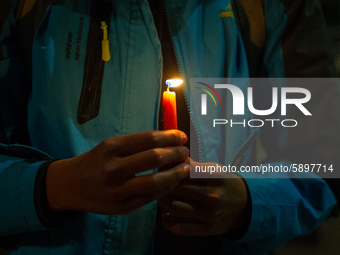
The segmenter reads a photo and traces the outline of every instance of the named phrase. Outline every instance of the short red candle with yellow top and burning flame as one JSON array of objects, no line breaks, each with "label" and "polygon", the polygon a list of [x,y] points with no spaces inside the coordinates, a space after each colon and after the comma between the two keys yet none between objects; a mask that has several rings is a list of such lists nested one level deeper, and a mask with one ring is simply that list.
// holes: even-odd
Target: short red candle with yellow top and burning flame
[{"label": "short red candle with yellow top and burning flame", "polygon": [[178,79],[166,81],[168,89],[163,92],[164,130],[177,129],[176,93],[171,92],[169,87],[176,87],[182,84],[182,82],[182,80]]}]

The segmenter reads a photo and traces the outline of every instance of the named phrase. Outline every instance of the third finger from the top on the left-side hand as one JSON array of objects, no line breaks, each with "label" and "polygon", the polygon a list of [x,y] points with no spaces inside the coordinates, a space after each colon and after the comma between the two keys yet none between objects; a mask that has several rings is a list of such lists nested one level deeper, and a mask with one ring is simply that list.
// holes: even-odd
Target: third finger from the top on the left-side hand
[{"label": "third finger from the top on the left-side hand", "polygon": [[125,191],[128,196],[139,194],[154,193],[157,199],[164,196],[163,193],[158,193],[164,188],[169,188],[171,192],[178,183],[188,178],[190,175],[190,166],[188,163],[182,163],[170,170],[164,172],[157,172],[148,175],[140,175],[125,182],[121,189]]}]

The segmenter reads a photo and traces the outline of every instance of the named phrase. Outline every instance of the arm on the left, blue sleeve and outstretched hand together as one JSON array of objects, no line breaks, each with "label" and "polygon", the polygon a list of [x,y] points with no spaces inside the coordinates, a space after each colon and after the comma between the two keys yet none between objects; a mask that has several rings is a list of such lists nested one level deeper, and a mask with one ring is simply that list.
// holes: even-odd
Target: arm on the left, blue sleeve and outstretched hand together
[{"label": "arm on the left, blue sleeve and outstretched hand together", "polygon": [[[47,170],[46,191],[53,211],[127,214],[172,191],[189,175],[183,162],[187,140],[179,131],[149,131],[108,138],[74,158],[53,162]],[[171,147],[166,147],[171,146]],[[5,146],[32,154],[29,160],[6,157],[0,165],[0,235],[44,229],[37,215],[36,176],[45,161],[35,162],[32,148]],[[42,154],[43,155],[43,154]],[[136,174],[169,163],[172,169]]]}]

